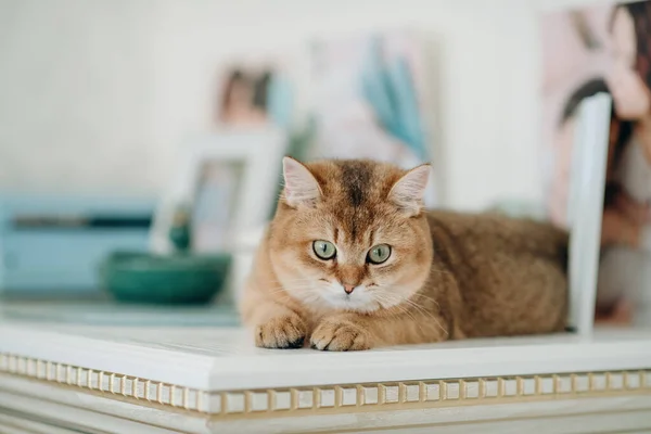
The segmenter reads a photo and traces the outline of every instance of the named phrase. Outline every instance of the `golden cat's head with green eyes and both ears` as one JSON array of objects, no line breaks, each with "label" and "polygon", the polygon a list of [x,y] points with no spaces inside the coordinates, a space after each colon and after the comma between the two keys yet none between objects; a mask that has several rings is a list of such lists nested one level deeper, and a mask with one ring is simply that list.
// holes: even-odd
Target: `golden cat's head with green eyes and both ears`
[{"label": "golden cat's head with green eyes and both ears", "polygon": [[314,309],[370,312],[409,298],[432,263],[423,214],[430,170],[285,157],[269,239],[284,291]]}]

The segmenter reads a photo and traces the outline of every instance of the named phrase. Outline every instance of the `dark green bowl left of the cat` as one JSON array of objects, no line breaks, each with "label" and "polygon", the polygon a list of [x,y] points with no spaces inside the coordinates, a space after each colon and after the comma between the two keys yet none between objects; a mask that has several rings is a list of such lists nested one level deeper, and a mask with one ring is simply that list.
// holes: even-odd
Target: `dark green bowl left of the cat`
[{"label": "dark green bowl left of the cat", "polygon": [[208,303],[224,288],[231,255],[151,255],[116,252],[101,267],[115,299],[149,304]]}]

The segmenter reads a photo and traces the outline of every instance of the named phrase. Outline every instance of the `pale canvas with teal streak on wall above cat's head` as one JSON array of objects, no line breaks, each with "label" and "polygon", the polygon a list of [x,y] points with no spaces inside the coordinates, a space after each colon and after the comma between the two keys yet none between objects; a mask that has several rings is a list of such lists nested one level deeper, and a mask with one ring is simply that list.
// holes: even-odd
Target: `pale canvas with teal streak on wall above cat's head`
[{"label": "pale canvas with teal streak on wall above cat's head", "polygon": [[[316,138],[311,158],[436,164],[427,43],[409,31],[319,39],[310,46]],[[436,204],[436,176],[425,203]]]}]

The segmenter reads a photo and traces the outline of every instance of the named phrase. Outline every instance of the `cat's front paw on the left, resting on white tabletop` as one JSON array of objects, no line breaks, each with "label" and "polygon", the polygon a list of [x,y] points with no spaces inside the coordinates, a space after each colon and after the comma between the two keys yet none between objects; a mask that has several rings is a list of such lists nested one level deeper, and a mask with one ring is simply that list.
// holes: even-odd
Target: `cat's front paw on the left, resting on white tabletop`
[{"label": "cat's front paw on the left, resting on white tabletop", "polygon": [[263,348],[302,348],[306,335],[307,327],[301,317],[283,315],[255,328],[255,344]]}]

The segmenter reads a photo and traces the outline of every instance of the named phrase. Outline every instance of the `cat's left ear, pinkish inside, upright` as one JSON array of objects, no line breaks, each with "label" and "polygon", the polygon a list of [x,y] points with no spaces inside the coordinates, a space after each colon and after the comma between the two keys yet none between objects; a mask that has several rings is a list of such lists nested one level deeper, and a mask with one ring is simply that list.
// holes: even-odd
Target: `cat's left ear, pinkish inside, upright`
[{"label": "cat's left ear, pinkish inside, upright", "polygon": [[284,177],[284,200],[292,207],[315,206],[321,197],[321,188],[315,176],[305,165],[294,158],[282,158]]}]

